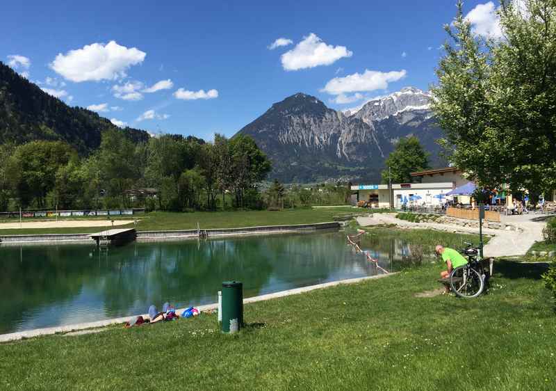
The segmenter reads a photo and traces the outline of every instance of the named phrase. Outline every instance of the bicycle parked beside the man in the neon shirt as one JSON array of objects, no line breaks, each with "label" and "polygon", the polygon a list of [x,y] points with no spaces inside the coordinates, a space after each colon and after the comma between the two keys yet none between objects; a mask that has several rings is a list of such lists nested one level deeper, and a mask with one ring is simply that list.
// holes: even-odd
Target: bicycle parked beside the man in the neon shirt
[{"label": "bicycle parked beside the man in the neon shirt", "polygon": [[452,292],[463,298],[475,298],[488,286],[490,272],[484,269],[479,256],[479,248],[464,242],[467,246],[462,252],[467,256],[467,264],[458,266],[450,273]]}]

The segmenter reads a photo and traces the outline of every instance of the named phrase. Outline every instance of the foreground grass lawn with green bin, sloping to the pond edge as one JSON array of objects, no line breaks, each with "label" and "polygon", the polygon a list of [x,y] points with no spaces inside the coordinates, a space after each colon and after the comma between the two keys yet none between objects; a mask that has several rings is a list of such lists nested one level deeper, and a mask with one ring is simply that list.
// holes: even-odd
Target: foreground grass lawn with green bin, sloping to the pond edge
[{"label": "foreground grass lawn with green bin, sloping to the pond edge", "polygon": [[216,314],[0,345],[2,390],[555,390],[556,322],[538,264],[499,262],[486,296],[416,298],[441,264]]}]

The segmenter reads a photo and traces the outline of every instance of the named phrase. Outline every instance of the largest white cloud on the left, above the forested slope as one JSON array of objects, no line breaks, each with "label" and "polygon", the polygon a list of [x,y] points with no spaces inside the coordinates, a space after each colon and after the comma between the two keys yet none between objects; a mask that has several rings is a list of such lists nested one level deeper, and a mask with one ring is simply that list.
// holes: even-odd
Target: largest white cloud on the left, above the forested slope
[{"label": "largest white cloud on the left, above the forested slope", "polygon": [[126,76],[131,65],[142,63],[147,54],[136,47],[127,48],[110,41],[93,43],[82,49],[58,54],[50,67],[65,79],[80,81],[115,80]]}]

